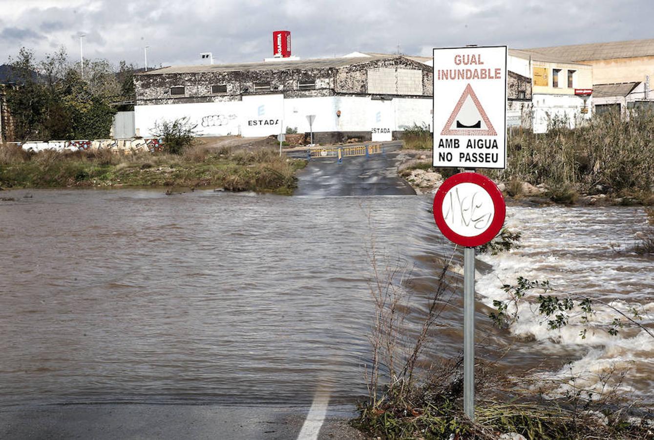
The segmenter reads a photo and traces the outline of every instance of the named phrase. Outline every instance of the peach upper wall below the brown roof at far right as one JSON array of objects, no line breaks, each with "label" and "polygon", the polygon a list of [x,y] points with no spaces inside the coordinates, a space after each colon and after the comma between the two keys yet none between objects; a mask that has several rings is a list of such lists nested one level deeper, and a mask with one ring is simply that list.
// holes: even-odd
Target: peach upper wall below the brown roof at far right
[{"label": "peach upper wall below the brown roof at far right", "polygon": [[645,75],[654,79],[654,56],[589,60],[579,63],[593,66],[593,84],[645,81]]}]

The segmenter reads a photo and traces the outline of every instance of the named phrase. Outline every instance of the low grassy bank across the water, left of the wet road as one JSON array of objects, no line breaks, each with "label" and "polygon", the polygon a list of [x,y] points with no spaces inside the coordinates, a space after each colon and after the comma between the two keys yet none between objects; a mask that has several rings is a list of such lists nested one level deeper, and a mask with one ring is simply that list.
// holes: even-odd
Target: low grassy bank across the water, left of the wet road
[{"label": "low grassy bank across the water, left of the wet road", "polygon": [[222,187],[292,194],[304,160],[274,149],[188,147],[181,155],[111,151],[27,153],[0,145],[0,187]]}]

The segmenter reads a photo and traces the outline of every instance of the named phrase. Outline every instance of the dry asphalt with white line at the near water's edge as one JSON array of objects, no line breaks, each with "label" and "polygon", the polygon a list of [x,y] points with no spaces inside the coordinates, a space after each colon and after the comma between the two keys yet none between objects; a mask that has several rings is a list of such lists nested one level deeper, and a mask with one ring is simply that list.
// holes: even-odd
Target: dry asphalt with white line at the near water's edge
[{"label": "dry asphalt with white line at the near water's edge", "polygon": [[0,438],[10,439],[364,439],[347,409],[330,408],[311,424],[308,408],[95,404],[0,409]]}]

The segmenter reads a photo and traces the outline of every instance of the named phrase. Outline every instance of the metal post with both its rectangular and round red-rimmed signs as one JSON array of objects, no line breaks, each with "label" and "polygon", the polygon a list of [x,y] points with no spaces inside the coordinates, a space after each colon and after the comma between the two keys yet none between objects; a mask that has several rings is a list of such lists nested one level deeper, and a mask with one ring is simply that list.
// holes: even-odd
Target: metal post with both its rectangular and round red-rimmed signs
[{"label": "metal post with both its rectangular and round red-rimmed signs", "polygon": [[[507,60],[507,46],[434,49],[434,166],[506,168]],[[433,211],[443,235],[465,247],[463,410],[474,420],[475,246],[500,232],[506,206],[492,180],[468,169],[443,182]]]}]

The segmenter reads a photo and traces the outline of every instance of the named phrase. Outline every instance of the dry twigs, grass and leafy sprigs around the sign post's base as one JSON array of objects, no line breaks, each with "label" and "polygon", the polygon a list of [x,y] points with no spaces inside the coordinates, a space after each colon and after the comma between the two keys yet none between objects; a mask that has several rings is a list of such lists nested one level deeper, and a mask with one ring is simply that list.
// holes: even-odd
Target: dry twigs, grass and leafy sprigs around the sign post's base
[{"label": "dry twigs, grass and leafy sprigs around the sign post's base", "polygon": [[[510,241],[517,242],[519,237],[512,236]],[[572,374],[571,380],[519,371],[507,375],[500,373],[496,363],[481,357],[475,362],[472,422],[462,409],[462,358],[439,358],[438,349],[429,342],[442,331],[441,314],[462,287],[453,257],[435,262],[440,269],[434,293],[416,308],[409,305],[411,274],[401,264],[380,261],[374,244],[369,255],[373,268],[370,293],[375,304],[366,370],[369,395],[358,405],[354,427],[380,439],[651,438],[651,413],[636,410],[638,416],[634,416],[632,403],[619,392],[623,377],[604,376],[597,392],[585,390],[583,378]],[[505,288],[520,299],[526,291],[544,289],[543,297],[551,291],[547,283],[524,279]],[[411,304],[415,301],[411,298]],[[567,321],[572,309],[559,299],[543,303],[541,313],[554,322],[550,328],[565,325],[558,316],[562,314],[561,319]],[[563,308],[559,310],[560,305]],[[593,314],[587,302],[576,306]],[[416,320],[414,315],[408,323],[409,314],[419,317]],[[508,318],[506,313],[498,317],[505,323],[504,318]]]}]

